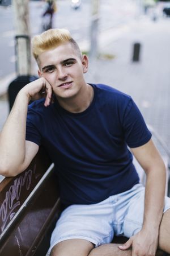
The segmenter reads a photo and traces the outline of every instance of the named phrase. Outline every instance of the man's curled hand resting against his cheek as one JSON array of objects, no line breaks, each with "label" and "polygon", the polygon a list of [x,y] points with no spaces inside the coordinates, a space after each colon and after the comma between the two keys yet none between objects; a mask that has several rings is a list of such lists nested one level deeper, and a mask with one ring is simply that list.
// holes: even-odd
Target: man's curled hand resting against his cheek
[{"label": "man's curled hand resting against his cheek", "polygon": [[25,85],[19,92],[22,93],[26,94],[28,101],[45,98],[45,106],[49,106],[52,101],[52,86],[44,77]]}]

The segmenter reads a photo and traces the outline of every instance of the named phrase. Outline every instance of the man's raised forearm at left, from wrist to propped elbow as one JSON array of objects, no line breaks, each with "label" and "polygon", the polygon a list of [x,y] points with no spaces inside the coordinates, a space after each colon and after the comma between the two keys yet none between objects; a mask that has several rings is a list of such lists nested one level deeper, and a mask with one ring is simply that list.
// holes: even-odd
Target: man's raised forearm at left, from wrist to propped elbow
[{"label": "man's raised forearm at left, from wrist to propped elbow", "polygon": [[0,174],[15,176],[25,158],[25,126],[29,98],[19,92],[0,133]]}]

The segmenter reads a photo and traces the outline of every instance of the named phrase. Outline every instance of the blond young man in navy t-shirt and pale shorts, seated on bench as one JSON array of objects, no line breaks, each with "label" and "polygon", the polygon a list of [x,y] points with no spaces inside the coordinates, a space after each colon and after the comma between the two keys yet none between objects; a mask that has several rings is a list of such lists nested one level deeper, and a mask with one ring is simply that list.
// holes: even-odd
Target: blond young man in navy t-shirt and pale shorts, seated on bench
[{"label": "blond young man in navy t-shirt and pale shorts, seated on bench", "polygon": [[[1,132],[0,171],[15,176],[40,144],[48,150],[65,207],[48,255],[148,256],[157,247],[170,253],[165,167],[134,101],[86,83],[88,58],[69,31],[35,36],[32,49],[40,79],[16,97]],[[128,146],[146,172],[146,188]],[[117,247],[114,235],[130,239]]]}]

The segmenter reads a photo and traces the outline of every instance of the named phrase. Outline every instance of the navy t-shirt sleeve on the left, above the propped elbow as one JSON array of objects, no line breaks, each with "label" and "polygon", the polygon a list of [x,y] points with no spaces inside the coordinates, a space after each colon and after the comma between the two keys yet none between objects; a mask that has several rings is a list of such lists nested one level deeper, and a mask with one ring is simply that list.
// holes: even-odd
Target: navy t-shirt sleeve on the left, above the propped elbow
[{"label": "navy t-shirt sleeve on the left, above the propped elbow", "polygon": [[40,146],[41,144],[41,135],[37,129],[36,123],[38,122],[36,113],[31,109],[28,109],[27,114],[27,125],[26,125],[26,141],[31,141]]}]

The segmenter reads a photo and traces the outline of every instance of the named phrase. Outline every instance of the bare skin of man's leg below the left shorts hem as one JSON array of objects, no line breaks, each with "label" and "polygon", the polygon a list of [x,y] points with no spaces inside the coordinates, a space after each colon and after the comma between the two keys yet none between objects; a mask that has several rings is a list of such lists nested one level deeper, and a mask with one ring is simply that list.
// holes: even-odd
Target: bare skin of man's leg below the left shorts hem
[{"label": "bare skin of man's leg below the left shorts hem", "polygon": [[70,239],[57,243],[50,256],[87,256],[94,248],[91,242],[83,239]]}]

